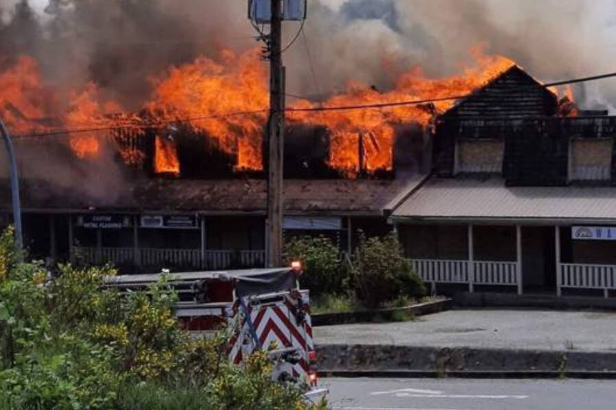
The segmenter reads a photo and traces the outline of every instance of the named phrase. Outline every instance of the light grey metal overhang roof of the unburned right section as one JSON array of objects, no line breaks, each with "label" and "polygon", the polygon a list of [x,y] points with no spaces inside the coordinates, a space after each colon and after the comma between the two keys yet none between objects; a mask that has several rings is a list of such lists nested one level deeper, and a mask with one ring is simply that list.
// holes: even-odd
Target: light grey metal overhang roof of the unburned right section
[{"label": "light grey metal overhang roof of the unburned right section", "polygon": [[512,187],[499,176],[431,178],[391,219],[616,221],[616,187]]}]

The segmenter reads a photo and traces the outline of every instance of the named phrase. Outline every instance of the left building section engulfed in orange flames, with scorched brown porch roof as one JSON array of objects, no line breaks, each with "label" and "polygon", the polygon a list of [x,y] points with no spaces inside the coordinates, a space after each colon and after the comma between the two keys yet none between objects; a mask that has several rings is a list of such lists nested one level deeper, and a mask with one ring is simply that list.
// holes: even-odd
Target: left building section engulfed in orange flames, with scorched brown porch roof
[{"label": "left building section engulfed in orange flames, with scorched brown porch roof", "polygon": [[[477,53],[455,77],[415,69],[390,91],[355,83],[289,104],[285,232],[318,231],[347,252],[359,229],[388,232],[384,217],[429,173],[431,124],[454,101],[388,104],[465,95],[511,66]],[[94,84],[60,110],[61,93],[43,85],[31,58],[0,73],[29,249],[130,271],[262,264],[268,88],[258,54],[197,58],[152,84],[139,110],[123,110]]]}]

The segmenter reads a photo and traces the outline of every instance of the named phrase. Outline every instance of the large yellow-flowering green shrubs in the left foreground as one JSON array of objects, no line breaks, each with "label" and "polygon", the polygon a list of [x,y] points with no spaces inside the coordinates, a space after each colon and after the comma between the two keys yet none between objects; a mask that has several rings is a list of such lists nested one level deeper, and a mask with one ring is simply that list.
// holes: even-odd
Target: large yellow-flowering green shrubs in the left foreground
[{"label": "large yellow-flowering green shrubs in the left foreground", "polygon": [[122,296],[102,287],[109,267],[66,265],[50,283],[16,262],[11,238],[0,237],[1,410],[316,409],[270,380],[264,353],[234,365],[225,333],[182,330],[165,280]]}]

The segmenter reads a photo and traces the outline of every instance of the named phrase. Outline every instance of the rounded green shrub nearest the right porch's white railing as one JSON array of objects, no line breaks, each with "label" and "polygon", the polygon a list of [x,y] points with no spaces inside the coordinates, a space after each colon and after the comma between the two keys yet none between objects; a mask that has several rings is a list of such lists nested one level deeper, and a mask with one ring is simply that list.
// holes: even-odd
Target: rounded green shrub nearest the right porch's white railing
[{"label": "rounded green shrub nearest the right porch's white railing", "polygon": [[372,309],[401,296],[425,294],[423,281],[412,272],[393,235],[369,239],[361,235],[351,258],[350,283],[357,298]]}]

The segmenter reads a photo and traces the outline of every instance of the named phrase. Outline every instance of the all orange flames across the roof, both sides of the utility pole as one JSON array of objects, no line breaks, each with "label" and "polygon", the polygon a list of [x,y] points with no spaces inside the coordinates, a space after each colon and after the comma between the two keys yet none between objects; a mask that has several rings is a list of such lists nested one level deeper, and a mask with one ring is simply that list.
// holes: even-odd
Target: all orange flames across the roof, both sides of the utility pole
[{"label": "all orange flames across the roof, both sides of the utility pole", "polygon": [[[298,101],[292,108],[362,106],[466,95],[514,64],[501,56],[484,56],[481,47],[471,50],[471,55],[475,64],[462,67],[460,75],[434,79],[416,68],[401,75],[391,91],[379,92],[368,84],[349,82],[343,95],[335,95],[322,103]],[[191,119],[184,122],[214,138],[226,153],[237,156],[235,169],[261,170],[269,105],[267,77],[258,50],[239,55],[225,50],[220,62],[200,57],[181,67],[171,67],[163,77],[153,80],[152,99],[146,101],[143,108],[155,121]],[[145,120],[122,113],[118,104],[102,97],[95,84],[87,84],[81,91],[71,93],[69,109],[65,114],[58,114],[57,93],[43,86],[36,62],[23,57],[0,73],[0,87],[3,90],[0,115],[13,132],[49,129],[49,124],[35,121],[47,117],[60,119],[56,128],[108,129],[133,124],[134,130],[120,138],[119,153],[127,164],[143,163],[143,151],[130,141],[135,135],[143,134]],[[288,119],[291,123],[327,128],[329,165],[347,176],[356,176],[362,170],[392,169],[396,126],[427,124],[435,112],[444,112],[454,103],[452,100],[359,110],[295,111],[289,112]],[[110,116],[109,112],[119,114]],[[241,114],[230,116],[229,113]],[[108,130],[70,134],[69,146],[79,158],[93,158],[100,154],[103,138],[109,134]],[[175,143],[156,137],[155,148],[156,173],[179,175]],[[362,164],[360,156],[364,158]]]}]

